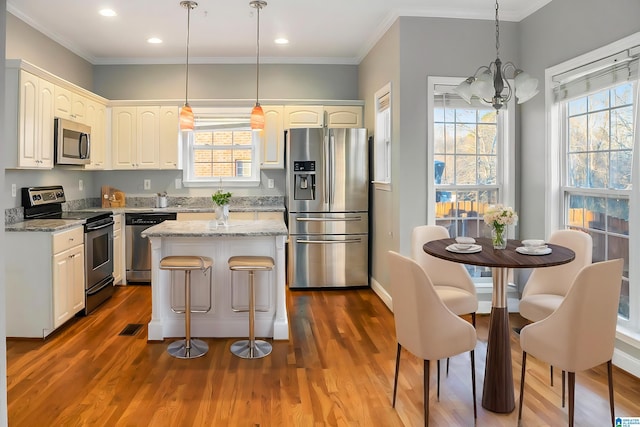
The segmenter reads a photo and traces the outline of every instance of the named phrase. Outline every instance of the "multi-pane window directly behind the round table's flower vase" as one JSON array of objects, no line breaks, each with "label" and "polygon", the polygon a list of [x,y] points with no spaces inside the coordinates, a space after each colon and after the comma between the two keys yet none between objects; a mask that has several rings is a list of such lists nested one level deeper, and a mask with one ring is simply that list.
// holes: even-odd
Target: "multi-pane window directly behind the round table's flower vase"
[{"label": "multi-pane window directly behind the round table's flower vase", "polygon": [[[433,179],[428,191],[429,223],[442,225],[451,237],[490,237],[483,221],[484,210],[492,204],[513,206],[510,185],[513,150],[507,141],[512,135],[513,101],[507,110],[496,110],[479,100],[465,102],[453,92],[459,78],[429,77],[428,164]],[[513,236],[513,230],[510,231]],[[489,268],[467,266],[476,281],[490,278]],[[490,280],[490,279],[487,279]]]}]

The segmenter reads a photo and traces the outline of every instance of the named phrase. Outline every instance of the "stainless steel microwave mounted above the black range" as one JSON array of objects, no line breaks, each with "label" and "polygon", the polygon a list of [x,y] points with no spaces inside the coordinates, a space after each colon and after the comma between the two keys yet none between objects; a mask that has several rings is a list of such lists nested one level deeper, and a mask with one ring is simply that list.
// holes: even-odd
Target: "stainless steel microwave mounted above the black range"
[{"label": "stainless steel microwave mounted above the black range", "polygon": [[55,162],[58,165],[86,165],[91,162],[91,127],[55,118]]}]

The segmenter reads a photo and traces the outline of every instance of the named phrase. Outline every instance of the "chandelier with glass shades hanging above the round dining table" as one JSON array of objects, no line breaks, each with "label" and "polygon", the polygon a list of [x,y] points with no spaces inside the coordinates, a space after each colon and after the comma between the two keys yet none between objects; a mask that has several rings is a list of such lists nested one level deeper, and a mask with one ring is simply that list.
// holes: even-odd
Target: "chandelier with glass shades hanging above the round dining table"
[{"label": "chandelier with glass shades hanging above the round dining table", "polygon": [[[491,104],[496,111],[500,109],[514,95],[518,104],[522,104],[538,93],[538,79],[517,68],[513,62],[502,64],[500,60],[500,22],[498,20],[498,0],[496,0],[496,59],[488,66],[483,65],[473,76],[468,77],[455,88],[455,92],[462,99],[471,104],[471,98],[476,96]],[[508,79],[514,80],[511,87]]]}]

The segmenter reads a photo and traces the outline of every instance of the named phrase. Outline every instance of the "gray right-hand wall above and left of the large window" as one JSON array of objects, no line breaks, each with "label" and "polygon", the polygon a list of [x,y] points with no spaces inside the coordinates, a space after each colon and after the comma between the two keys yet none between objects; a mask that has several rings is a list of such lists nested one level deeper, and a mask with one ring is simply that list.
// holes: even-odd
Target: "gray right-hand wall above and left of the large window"
[{"label": "gray right-hand wall above and left of the large window", "polygon": [[[520,23],[522,67],[544,84],[544,70],[640,31],[637,0],[553,0]],[[521,107],[520,235],[545,235],[543,90]]]}]

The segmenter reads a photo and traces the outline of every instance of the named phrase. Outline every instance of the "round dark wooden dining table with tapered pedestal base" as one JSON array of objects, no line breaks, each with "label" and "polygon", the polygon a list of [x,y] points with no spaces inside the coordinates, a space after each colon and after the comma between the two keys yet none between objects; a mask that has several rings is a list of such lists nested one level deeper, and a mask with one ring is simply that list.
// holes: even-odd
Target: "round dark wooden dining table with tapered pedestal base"
[{"label": "round dark wooden dining table with tapered pedestal base", "polygon": [[508,413],[515,409],[507,308],[509,269],[542,268],[566,264],[575,258],[575,253],[564,246],[548,244],[551,248],[551,253],[548,255],[525,255],[516,252],[516,248],[522,246],[519,240],[508,240],[506,249],[494,249],[491,239],[484,237],[476,238],[476,244],[482,247],[480,252],[448,251],[447,246],[454,243],[454,239],[432,240],[424,244],[423,250],[429,255],[447,261],[491,267],[493,295],[482,406],[493,412]]}]

